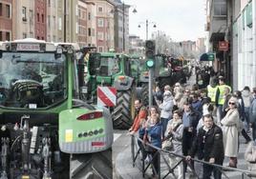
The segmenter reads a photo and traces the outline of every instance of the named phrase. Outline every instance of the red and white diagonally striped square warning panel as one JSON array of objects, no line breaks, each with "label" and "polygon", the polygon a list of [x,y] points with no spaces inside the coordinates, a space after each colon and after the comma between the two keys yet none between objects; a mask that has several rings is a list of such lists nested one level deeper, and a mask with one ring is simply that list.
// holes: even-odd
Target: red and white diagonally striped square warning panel
[{"label": "red and white diagonally striped square warning panel", "polygon": [[97,106],[115,107],[117,102],[117,89],[114,87],[97,87]]}]

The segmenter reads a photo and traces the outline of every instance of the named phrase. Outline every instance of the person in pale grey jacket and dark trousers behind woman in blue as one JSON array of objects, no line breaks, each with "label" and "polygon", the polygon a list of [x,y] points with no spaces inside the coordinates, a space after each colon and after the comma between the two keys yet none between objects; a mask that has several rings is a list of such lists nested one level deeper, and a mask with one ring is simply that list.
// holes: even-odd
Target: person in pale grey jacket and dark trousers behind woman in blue
[{"label": "person in pale grey jacket and dark trousers behind woman in blue", "polygon": [[170,90],[165,90],[163,93],[163,101],[160,104],[160,122],[162,125],[162,138],[164,138],[164,133],[167,128],[168,121],[171,119],[172,109],[173,109],[173,95]]}]

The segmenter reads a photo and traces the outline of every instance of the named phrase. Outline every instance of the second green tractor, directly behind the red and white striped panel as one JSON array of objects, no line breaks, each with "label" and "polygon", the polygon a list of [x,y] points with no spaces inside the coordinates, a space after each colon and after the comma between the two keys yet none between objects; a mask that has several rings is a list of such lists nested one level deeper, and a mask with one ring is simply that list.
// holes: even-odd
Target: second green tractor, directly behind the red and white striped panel
[{"label": "second green tractor, directly behind the red and white striped panel", "polygon": [[115,107],[110,107],[116,129],[129,129],[133,124],[136,81],[129,56],[115,52],[91,52],[85,78],[86,99],[96,103],[98,87],[117,89]]}]

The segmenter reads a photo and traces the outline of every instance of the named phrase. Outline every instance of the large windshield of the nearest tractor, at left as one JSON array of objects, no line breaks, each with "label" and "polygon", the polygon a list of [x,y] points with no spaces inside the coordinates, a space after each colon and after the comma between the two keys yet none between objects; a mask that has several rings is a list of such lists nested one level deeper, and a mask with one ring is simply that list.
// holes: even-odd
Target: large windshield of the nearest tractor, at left
[{"label": "large windshield of the nearest tractor, at left", "polygon": [[37,109],[66,98],[65,55],[3,52],[0,58],[0,107]]}]

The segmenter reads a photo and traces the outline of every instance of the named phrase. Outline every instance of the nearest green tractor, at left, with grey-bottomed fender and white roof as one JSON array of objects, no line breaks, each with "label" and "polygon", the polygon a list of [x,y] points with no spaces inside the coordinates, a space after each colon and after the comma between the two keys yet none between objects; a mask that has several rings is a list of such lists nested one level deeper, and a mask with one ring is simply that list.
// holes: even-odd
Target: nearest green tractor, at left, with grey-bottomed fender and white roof
[{"label": "nearest green tractor, at left, with grey-bottomed fender and white roof", "polygon": [[112,117],[81,100],[75,50],[0,43],[1,178],[113,178]]}]

